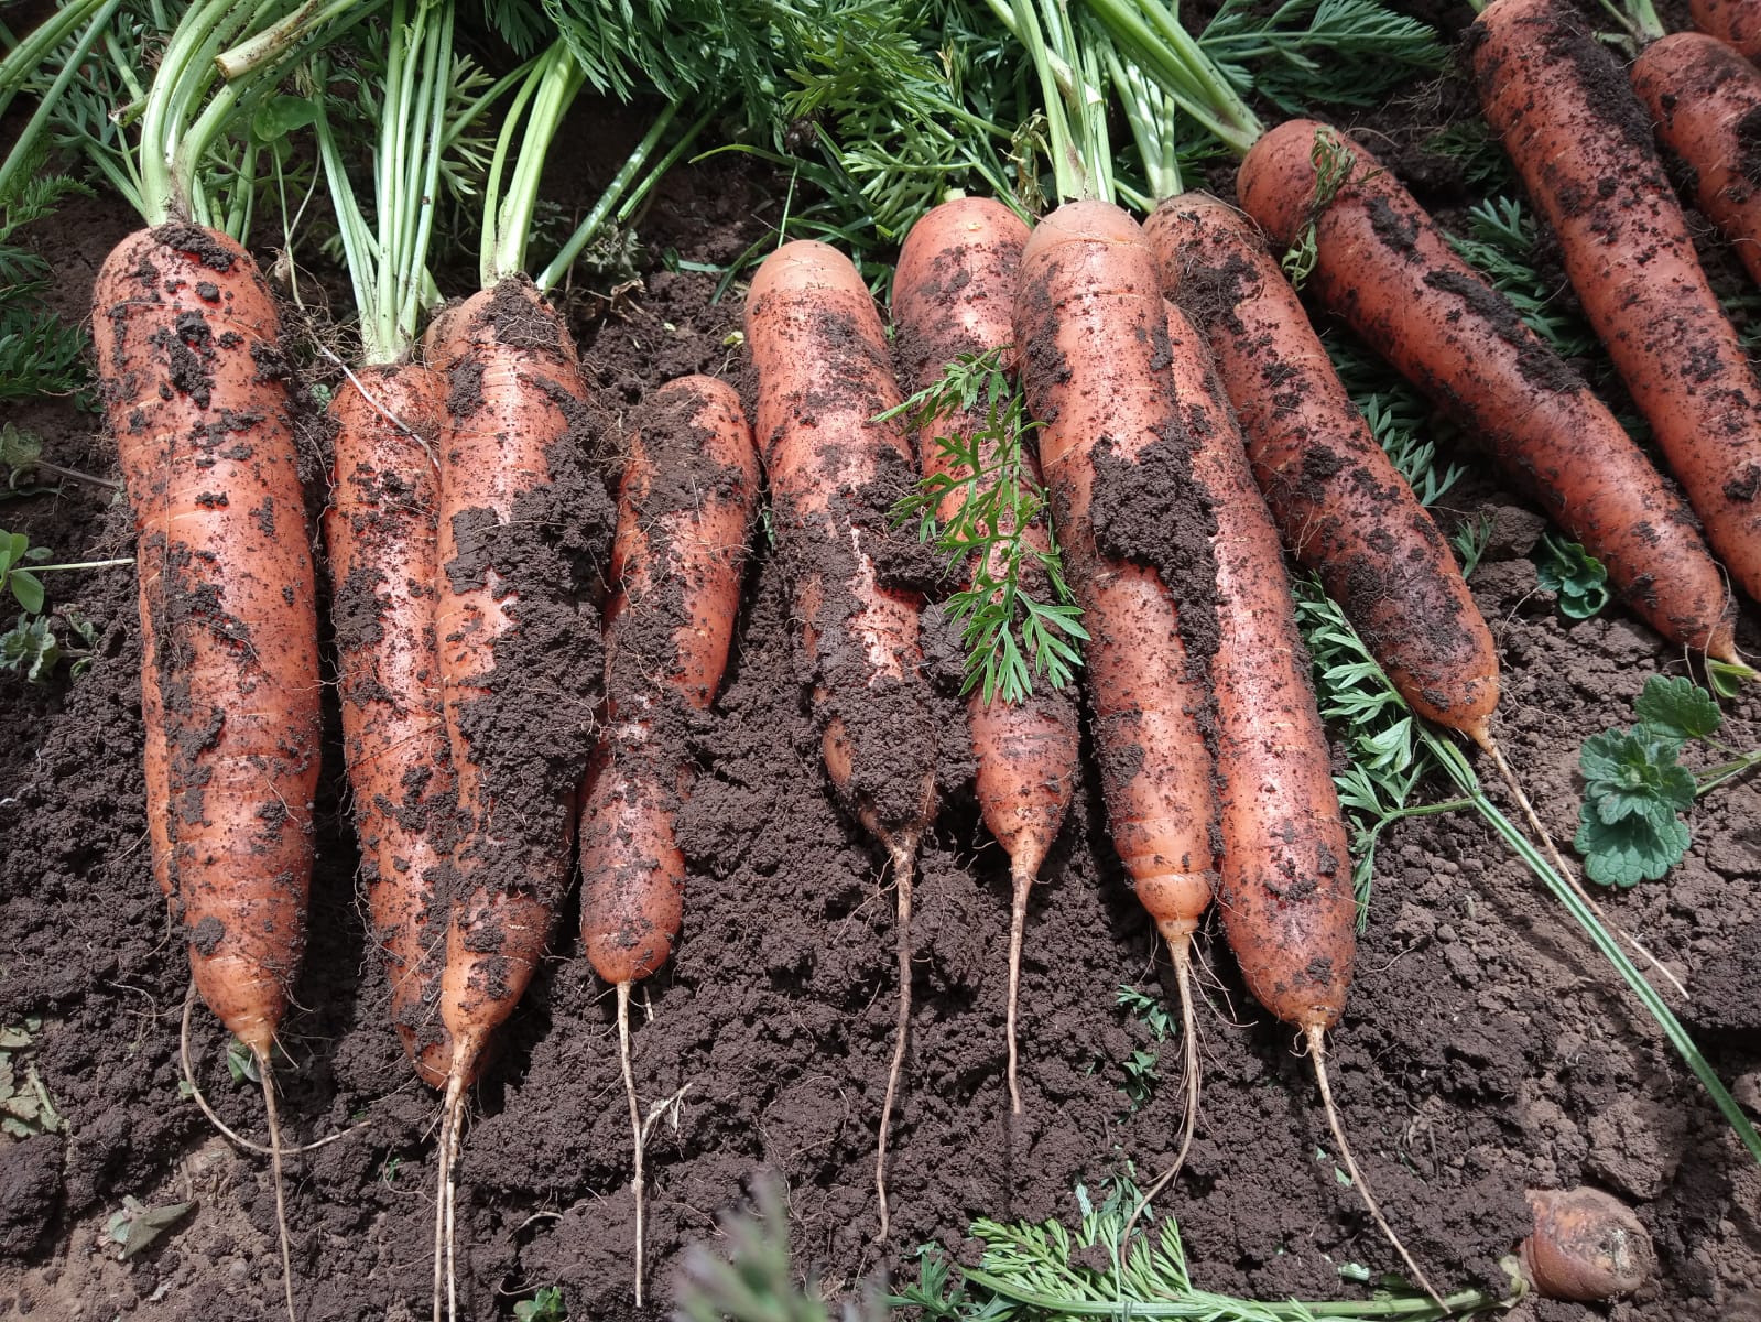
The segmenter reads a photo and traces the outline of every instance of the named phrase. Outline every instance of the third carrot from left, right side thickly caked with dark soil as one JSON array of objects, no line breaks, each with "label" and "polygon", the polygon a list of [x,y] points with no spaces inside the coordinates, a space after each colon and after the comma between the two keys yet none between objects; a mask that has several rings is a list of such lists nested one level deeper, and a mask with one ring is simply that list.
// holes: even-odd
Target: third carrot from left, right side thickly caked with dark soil
[{"label": "third carrot from left, right side thickly caked with dark soil", "polygon": [[574,344],[523,277],[472,294],[463,326],[440,444],[435,603],[460,807],[440,977],[453,1061],[437,1274],[442,1251],[451,1257],[465,1089],[525,994],[569,885],[576,791],[604,672],[586,580],[608,511],[599,479],[585,472],[586,393]]}]

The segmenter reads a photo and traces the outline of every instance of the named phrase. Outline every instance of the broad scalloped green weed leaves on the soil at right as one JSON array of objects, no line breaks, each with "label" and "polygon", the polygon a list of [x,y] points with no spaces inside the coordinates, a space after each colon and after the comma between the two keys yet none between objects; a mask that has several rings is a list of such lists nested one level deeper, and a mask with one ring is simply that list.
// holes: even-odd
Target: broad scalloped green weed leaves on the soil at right
[{"label": "broad scalloped green weed leaves on the soil at right", "polygon": [[[1638,724],[1583,740],[1583,806],[1573,848],[1583,871],[1604,887],[1657,881],[1687,855],[1692,836],[1682,813],[1717,784],[1761,763],[1761,749],[1736,753],[1712,739],[1722,724],[1719,703],[1685,677],[1652,675],[1634,702]],[[1705,770],[1680,763],[1685,746],[1705,740],[1733,754]]]}]

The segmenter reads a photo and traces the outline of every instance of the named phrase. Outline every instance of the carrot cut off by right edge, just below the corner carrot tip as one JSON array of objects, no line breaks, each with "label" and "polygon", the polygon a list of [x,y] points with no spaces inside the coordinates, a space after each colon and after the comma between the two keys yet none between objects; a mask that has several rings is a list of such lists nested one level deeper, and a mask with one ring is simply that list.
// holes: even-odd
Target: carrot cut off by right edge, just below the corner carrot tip
[{"label": "carrot cut off by right edge, just below the corner carrot tip", "polygon": [[1676,32],[1654,41],[1631,69],[1657,139],[1691,175],[1694,201],[1724,231],[1761,284],[1761,71],[1720,41]]}]

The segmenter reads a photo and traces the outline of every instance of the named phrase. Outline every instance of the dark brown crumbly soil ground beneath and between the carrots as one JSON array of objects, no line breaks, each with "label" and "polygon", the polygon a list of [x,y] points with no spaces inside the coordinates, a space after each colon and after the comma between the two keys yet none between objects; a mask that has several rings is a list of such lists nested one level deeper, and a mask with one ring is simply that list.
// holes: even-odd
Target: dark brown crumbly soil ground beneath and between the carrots
[{"label": "dark brown crumbly soil ground beneath and between the carrots", "polygon": [[[616,146],[606,160],[620,159]],[[609,173],[592,169],[597,182]],[[690,264],[729,263],[763,240],[780,197],[734,166],[685,169],[645,224],[641,287],[571,301],[588,384],[618,435],[660,382],[740,370],[729,347],[740,305],[711,301],[717,277]],[[102,252],[130,222],[99,201],[63,217],[37,241],[56,268],[58,307],[83,316]],[[689,264],[667,270],[667,250]],[[93,414],[48,404],[16,420],[44,434],[56,462],[114,476]],[[306,458],[322,471],[315,448]],[[1446,518],[1462,518],[1516,501],[1481,478],[1446,504]],[[127,555],[132,541],[125,506],[99,488],[9,501],[4,520],[65,559]],[[1529,559],[1539,525],[1506,516],[1500,527],[1530,534],[1502,538],[1472,578],[1504,661],[1497,732],[1546,825],[1569,839],[1578,744],[1631,723],[1645,677],[1682,673],[1682,657],[1618,610],[1560,617]],[[148,867],[134,580],[129,569],[58,575],[49,589],[53,606],[97,624],[97,642],[77,680],[65,670],[48,687],[0,677],[0,1026],[28,1029],[14,1075],[42,1081],[65,1130],[0,1135],[0,1317],[268,1317],[280,1290],[268,1163],[218,1139],[180,1091],[188,969]],[[666,1105],[646,1163],[650,1317],[666,1315],[687,1246],[713,1248],[717,1214],[764,1169],[787,1188],[798,1271],[842,1294],[875,1273],[914,1274],[923,1244],[972,1262],[974,1218],[1072,1218],[1079,1183],[1099,1190],[1125,1170],[1143,1181],[1173,1153],[1180,1043],[1116,1005],[1122,985],[1171,1003],[1171,971],[1106,843],[1092,756],[1034,890],[1025,1114],[1009,1114],[1007,862],[960,763],[958,647],[940,612],[925,631],[942,705],[921,739],[940,744],[946,795],[916,888],[917,1008],[888,1181],[895,1237],[873,1243],[872,1186],[896,991],[888,869],[826,783],[798,622],[761,531],[724,694],[689,732],[701,770],[678,825],[685,931],[636,994],[636,1082],[645,1107]],[[1738,645],[1761,654],[1752,605]],[[356,883],[335,703],[326,712],[312,936],[276,1079],[289,1139],[347,1133],[289,1162],[296,1294],[310,1322],[421,1317],[438,1102],[391,1028]],[[541,744],[553,716],[527,712],[530,728],[505,737]],[[1761,742],[1756,696],[1726,719],[1731,744]],[[1724,786],[1691,825],[1694,846],[1666,881],[1601,899],[1685,982],[1689,998],[1671,1001],[1757,1107],[1761,786]],[[562,1289],[569,1317],[636,1317],[615,1001],[578,954],[578,917],[572,902],[560,915],[553,955],[470,1100],[458,1248],[472,1318],[511,1317],[546,1285]],[[1361,1297],[1342,1269],[1375,1276],[1396,1264],[1338,1172],[1310,1065],[1245,994],[1215,925],[1199,952],[1205,1105],[1159,1211],[1180,1216],[1205,1289]],[[206,1096],[261,1140],[261,1095],[229,1077],[224,1031],[199,1006],[190,1047]],[[1138,1051],[1153,1072],[1127,1077]],[[1511,1317],[1761,1315],[1761,1170],[1604,961],[1477,820],[1423,818],[1382,837],[1330,1054],[1358,1162],[1439,1285],[1500,1289],[1499,1259],[1525,1230],[1523,1188],[1588,1183],[1650,1229],[1655,1283],[1608,1310],[1529,1303]],[[192,1207],[122,1262],[107,1227],[125,1199]]]}]

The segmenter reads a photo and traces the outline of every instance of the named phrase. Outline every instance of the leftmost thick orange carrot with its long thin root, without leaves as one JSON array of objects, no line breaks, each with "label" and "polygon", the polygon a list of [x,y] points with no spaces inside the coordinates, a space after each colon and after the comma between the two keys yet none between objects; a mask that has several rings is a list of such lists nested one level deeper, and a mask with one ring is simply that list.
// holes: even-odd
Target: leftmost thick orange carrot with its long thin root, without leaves
[{"label": "leftmost thick orange carrot with its long thin root, without leaves", "polygon": [[250,254],[183,222],[118,243],[92,300],[136,524],[153,871],[257,1059],[292,1315],[269,1054],[305,948],[322,686],[280,323]]}]

